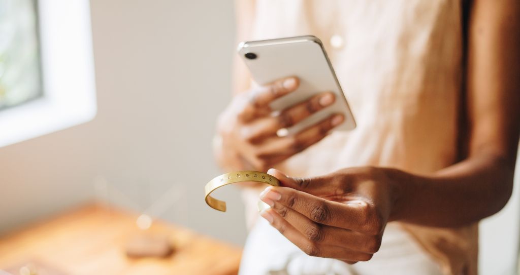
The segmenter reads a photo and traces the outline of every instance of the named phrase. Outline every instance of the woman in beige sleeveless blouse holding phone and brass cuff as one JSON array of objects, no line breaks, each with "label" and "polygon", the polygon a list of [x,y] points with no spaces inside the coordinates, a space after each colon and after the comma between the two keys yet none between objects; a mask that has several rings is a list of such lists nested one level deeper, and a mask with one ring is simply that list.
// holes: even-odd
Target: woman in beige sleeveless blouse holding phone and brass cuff
[{"label": "woman in beige sleeveless blouse holding phone and brass cuff", "polygon": [[272,117],[298,79],[251,88],[237,62],[217,159],[275,167],[284,186],[244,189],[250,210],[258,196],[271,208],[249,216],[241,273],[476,274],[477,223],[512,190],[519,12],[514,0],[237,1],[239,40],[322,39],[358,125],[330,133],[332,116],[278,136],[334,98]]}]

